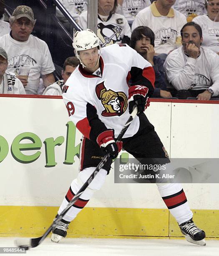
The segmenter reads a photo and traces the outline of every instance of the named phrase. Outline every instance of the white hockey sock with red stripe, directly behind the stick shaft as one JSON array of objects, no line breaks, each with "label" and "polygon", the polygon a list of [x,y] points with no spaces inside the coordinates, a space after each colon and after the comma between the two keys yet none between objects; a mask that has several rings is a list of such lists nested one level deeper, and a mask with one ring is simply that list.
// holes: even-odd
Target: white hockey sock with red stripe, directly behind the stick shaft
[{"label": "white hockey sock with red stripe, directly behind the stick shaft", "polygon": [[[83,169],[79,172],[78,177],[73,180],[68,189],[68,192],[60,205],[58,210],[58,214],[60,214],[65,207],[68,205],[68,202],[73,198],[74,195],[78,192],[78,190],[83,186],[86,180],[91,176],[95,167],[89,167]],[[91,184],[86,188],[80,198],[75,202],[75,204],[68,210],[68,212],[64,216],[64,220],[72,221],[76,218],[77,214],[83,209],[83,207],[88,203],[88,201],[93,196],[93,193],[99,189],[101,189],[105,179],[106,179],[107,171],[104,169],[100,169],[96,177],[93,179]]]}]

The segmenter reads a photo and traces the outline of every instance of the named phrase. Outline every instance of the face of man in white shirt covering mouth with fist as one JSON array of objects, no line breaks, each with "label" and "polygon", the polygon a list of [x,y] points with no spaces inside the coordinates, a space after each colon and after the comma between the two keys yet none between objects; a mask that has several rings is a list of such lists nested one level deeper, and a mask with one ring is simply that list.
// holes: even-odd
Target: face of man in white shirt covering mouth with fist
[{"label": "face of man in white shirt covering mouth with fist", "polygon": [[187,26],[183,30],[182,44],[184,50],[186,50],[186,44],[195,44],[196,47],[200,48],[202,43],[202,37],[200,38],[199,31],[194,26]]}]

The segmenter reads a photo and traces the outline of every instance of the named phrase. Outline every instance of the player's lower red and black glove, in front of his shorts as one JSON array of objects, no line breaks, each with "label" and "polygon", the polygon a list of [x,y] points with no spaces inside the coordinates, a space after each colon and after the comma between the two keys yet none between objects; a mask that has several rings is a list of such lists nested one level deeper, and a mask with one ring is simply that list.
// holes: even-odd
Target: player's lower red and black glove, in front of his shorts
[{"label": "player's lower red and black glove, in front of his shorts", "polygon": [[107,130],[97,137],[98,145],[114,159],[122,149],[122,141],[115,142],[113,130]]}]

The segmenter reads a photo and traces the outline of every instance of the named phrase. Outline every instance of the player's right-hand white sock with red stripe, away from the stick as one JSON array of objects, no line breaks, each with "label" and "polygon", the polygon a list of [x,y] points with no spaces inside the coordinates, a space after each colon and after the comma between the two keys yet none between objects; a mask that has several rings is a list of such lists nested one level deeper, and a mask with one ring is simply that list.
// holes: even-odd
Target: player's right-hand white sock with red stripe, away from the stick
[{"label": "player's right-hand white sock with red stripe, away from the stick", "polygon": [[158,190],[167,208],[178,224],[190,220],[193,213],[190,210],[182,185],[179,183],[157,184]]}]

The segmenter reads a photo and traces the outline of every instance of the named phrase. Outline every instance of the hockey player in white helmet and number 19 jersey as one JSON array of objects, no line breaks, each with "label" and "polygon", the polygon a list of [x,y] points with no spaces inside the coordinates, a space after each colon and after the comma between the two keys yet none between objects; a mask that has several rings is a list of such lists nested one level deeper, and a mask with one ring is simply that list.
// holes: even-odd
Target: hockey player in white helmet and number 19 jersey
[{"label": "hockey player in white helmet and number 19 jersey", "polygon": [[[101,50],[99,38],[91,30],[76,32],[73,47],[81,64],[65,83],[63,100],[70,119],[83,134],[80,172],[71,183],[58,214],[106,153],[116,158],[123,146],[141,164],[145,164],[147,159],[155,164],[170,162],[154,126],[143,113],[149,107],[149,97],[154,91],[155,76],[151,64],[126,44],[113,44]],[[131,79],[130,87],[126,79]],[[115,138],[136,105],[138,117],[133,120],[122,141],[116,143]],[[58,242],[66,236],[70,221],[76,218],[93,193],[101,189],[111,162],[100,169],[81,197],[53,228],[52,241]],[[192,212],[181,184],[157,185],[186,239],[205,245],[205,233],[192,221]]]}]

